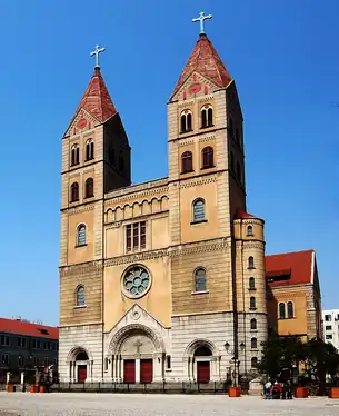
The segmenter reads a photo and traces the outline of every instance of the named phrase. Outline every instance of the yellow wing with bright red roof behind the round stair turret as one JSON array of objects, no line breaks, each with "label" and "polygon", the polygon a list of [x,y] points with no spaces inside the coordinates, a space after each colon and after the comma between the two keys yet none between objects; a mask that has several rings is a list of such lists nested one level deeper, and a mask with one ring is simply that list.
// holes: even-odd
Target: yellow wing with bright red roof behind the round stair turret
[{"label": "yellow wing with bright red roof behind the round stair turret", "polygon": [[266,278],[268,325],[281,336],[322,338],[316,252],[266,256]]}]

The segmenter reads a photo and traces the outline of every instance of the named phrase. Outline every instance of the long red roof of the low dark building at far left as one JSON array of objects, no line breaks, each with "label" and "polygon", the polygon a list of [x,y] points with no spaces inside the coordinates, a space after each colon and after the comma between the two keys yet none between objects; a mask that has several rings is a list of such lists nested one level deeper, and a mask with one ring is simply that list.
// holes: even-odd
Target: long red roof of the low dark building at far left
[{"label": "long red roof of the low dark building at far left", "polygon": [[[42,333],[41,333],[42,330]],[[47,334],[46,334],[47,331]],[[29,335],[42,338],[59,338],[59,329],[52,326],[23,323],[22,320],[0,318],[0,333]]]}]

